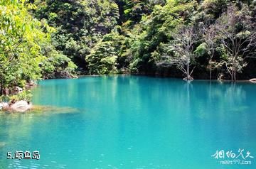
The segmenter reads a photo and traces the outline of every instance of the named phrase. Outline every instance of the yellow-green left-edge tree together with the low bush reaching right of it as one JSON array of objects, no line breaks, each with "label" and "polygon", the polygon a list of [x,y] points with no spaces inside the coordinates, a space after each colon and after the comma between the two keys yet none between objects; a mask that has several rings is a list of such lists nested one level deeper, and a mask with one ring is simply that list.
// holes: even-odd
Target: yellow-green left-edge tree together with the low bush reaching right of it
[{"label": "yellow-green left-edge tree together with the low bush reaching right of it", "polygon": [[[39,80],[48,72],[58,71],[58,65],[46,63],[46,60],[56,60],[57,57],[56,62],[69,60],[55,48],[48,50],[46,55],[46,48],[51,46],[50,33],[54,28],[31,16],[29,10],[33,9],[36,6],[25,0],[0,2],[1,94],[11,90],[11,87],[23,87],[27,82]],[[74,70],[75,66],[72,66]]]}]

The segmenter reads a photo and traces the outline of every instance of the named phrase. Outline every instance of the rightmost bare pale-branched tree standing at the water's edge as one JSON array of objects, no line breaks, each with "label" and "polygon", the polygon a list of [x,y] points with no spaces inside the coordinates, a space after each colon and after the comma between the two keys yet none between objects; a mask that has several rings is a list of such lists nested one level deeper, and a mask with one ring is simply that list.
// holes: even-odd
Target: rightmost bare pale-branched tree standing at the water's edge
[{"label": "rightmost bare pale-branched tree standing at the water's edge", "polygon": [[215,30],[228,56],[223,63],[231,80],[236,81],[237,72],[247,65],[245,58],[252,57],[256,46],[255,23],[248,7],[238,10],[235,5],[230,5],[216,21]]}]

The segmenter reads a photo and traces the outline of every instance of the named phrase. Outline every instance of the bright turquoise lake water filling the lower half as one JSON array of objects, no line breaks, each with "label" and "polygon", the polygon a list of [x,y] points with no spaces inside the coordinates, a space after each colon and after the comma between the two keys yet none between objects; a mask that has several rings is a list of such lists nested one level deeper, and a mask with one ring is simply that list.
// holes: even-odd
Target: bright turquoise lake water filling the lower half
[{"label": "bright turquoise lake water filling the lower half", "polygon": [[[100,76],[44,80],[43,112],[0,113],[0,168],[256,168],[256,85]],[[244,149],[247,165],[216,151]],[[39,160],[6,153],[39,151]],[[247,162],[246,162],[247,163]]]}]

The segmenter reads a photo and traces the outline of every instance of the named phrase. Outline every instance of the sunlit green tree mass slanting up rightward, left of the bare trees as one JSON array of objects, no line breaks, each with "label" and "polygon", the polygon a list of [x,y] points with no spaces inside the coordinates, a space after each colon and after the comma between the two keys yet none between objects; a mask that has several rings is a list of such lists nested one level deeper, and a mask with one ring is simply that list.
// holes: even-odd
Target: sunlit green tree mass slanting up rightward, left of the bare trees
[{"label": "sunlit green tree mass slanting up rightward, left of the bare trees", "polygon": [[162,47],[173,39],[177,26],[191,22],[196,6],[196,1],[169,0],[164,6],[154,6],[154,11],[142,18],[141,24],[134,28],[134,43],[130,48],[133,72],[155,70],[160,56],[164,55]]}]

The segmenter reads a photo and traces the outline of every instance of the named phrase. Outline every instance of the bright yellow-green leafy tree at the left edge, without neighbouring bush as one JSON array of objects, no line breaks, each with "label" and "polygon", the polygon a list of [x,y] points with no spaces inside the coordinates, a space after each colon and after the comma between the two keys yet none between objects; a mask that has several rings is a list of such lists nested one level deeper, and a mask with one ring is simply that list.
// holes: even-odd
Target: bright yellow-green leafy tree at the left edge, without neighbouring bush
[{"label": "bright yellow-green leafy tree at the left edge, without neighbouring bush", "polygon": [[28,14],[24,2],[1,1],[0,4],[0,78],[1,92],[5,87],[24,85],[37,80],[39,62],[43,60],[40,43],[48,40],[41,23]]}]

